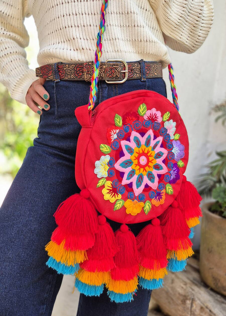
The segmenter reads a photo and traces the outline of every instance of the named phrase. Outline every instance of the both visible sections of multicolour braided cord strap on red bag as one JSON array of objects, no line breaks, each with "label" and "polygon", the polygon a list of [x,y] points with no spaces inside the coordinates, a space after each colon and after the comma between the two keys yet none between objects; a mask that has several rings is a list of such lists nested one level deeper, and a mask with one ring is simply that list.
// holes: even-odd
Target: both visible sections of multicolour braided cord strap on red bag
[{"label": "both visible sections of multicolour braided cord strap on red bag", "polygon": [[[91,78],[91,86],[90,86],[90,97],[89,97],[89,111],[92,111],[95,101],[96,101],[96,94],[97,94],[97,82],[98,82],[98,75],[99,75],[99,65],[100,65],[100,58],[102,56],[102,40],[103,35],[105,32],[105,14],[106,9],[108,7],[108,0],[103,0],[101,11],[100,11],[100,25],[99,25],[99,32],[97,33],[97,44],[96,44],[96,52],[95,52],[95,60],[94,60],[94,68],[93,68],[93,75]],[[176,106],[177,110],[179,111],[179,105],[177,102],[177,93],[176,93],[176,86],[174,83],[174,76],[173,76],[173,66],[172,64],[168,65],[169,70],[169,80],[170,86],[173,96],[173,103]]]}]

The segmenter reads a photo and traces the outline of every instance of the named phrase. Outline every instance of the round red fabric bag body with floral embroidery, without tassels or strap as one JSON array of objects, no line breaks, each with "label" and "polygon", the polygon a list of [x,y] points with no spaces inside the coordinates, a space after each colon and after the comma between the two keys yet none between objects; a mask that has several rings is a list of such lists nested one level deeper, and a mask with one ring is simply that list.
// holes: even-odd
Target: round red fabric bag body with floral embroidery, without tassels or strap
[{"label": "round red fabric bag body with floral embroidery, without tassels or strap", "polygon": [[177,196],[188,161],[187,131],[175,106],[137,90],[105,100],[92,117],[87,105],[75,114],[82,126],[75,178],[96,210],[120,223],[161,215]]}]

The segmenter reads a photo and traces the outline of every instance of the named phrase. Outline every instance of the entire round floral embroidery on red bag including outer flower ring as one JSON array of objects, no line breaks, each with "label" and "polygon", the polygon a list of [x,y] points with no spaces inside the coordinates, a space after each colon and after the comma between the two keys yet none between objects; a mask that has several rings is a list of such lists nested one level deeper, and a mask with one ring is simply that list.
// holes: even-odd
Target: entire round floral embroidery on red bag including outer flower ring
[{"label": "entire round floral embroidery on red bag including outer flower ring", "polygon": [[[100,135],[102,154],[94,160],[99,159],[94,173],[99,178],[95,182],[103,194],[104,211],[112,218],[129,217],[129,222],[138,222],[136,216],[149,218],[150,211],[161,214],[165,203],[169,205],[177,195],[187,159],[187,140],[177,111],[165,112],[152,101],[137,107],[131,102],[125,111],[118,106],[119,112],[109,113],[111,123],[106,126],[107,135]],[[96,137],[98,127],[95,131]],[[96,155],[96,151],[91,154]]]}]

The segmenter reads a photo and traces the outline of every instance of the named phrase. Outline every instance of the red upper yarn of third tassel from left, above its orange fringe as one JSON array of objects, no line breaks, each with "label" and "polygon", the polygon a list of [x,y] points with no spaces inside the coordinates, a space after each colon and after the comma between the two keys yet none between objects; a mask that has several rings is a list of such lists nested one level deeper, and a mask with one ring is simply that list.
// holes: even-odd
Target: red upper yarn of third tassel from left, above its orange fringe
[{"label": "red upper yarn of third tassel from left, above its orange fringe", "polygon": [[115,232],[115,238],[119,251],[114,257],[116,267],[111,270],[111,278],[129,281],[137,276],[139,271],[136,238],[125,224]]}]

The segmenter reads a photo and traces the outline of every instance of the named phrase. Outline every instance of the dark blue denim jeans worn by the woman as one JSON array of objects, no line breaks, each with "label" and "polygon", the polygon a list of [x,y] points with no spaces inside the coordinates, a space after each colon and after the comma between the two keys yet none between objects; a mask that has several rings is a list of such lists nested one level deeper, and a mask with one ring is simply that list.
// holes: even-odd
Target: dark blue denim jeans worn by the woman
[{"label": "dark blue denim jeans worn by the woman", "polygon": [[[90,83],[47,80],[44,87],[50,95],[50,110],[43,111],[34,146],[28,148],[0,209],[1,316],[51,316],[63,276],[47,267],[45,245],[56,228],[56,208],[79,192],[74,163],[80,125],[74,110],[88,103]],[[100,81],[95,106],[137,89],[166,96],[161,78],[122,84]],[[116,222],[111,225],[114,230],[119,227]],[[130,227],[136,235],[144,225]],[[146,316],[150,295],[151,291],[139,288],[134,301],[116,304],[110,302],[106,289],[100,297],[81,294],[77,316]]]}]

